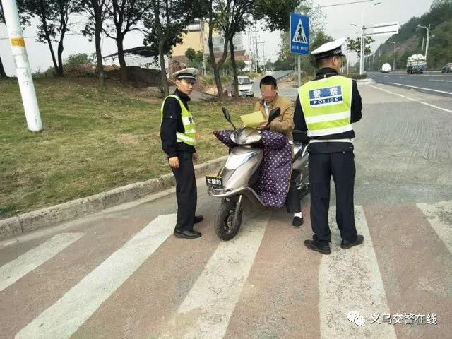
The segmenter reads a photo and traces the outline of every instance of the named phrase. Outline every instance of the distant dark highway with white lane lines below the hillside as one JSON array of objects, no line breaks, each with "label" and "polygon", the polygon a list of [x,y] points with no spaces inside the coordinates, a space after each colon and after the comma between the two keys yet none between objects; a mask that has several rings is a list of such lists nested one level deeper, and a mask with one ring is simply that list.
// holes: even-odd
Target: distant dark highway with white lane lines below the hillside
[{"label": "distant dark highway with white lane lines below the hillside", "polygon": [[388,85],[418,89],[425,93],[452,96],[452,74],[369,73],[369,78]]}]

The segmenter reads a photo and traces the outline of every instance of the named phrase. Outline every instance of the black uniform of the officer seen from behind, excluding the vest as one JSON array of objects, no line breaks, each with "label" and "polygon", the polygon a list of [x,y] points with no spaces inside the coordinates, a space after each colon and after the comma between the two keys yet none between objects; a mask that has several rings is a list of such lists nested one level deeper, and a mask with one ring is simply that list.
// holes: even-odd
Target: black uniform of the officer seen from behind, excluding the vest
[{"label": "black uniform of the officer seen from behind, excluding the vest", "polygon": [[[320,69],[313,81],[337,76],[335,69]],[[361,95],[356,81],[352,85],[351,122],[362,117]],[[295,104],[295,129],[307,131],[302,105],[299,97]],[[355,155],[352,143],[328,142],[331,139],[352,139],[355,131],[346,131],[328,136],[316,136],[311,140],[325,142],[309,144],[309,183],[311,186],[311,225],[317,240],[328,244],[331,230],[328,226],[328,208],[330,205],[330,181],[334,179],[336,191],[336,220],[342,239],[354,242],[357,237],[353,190],[355,186]]]}]

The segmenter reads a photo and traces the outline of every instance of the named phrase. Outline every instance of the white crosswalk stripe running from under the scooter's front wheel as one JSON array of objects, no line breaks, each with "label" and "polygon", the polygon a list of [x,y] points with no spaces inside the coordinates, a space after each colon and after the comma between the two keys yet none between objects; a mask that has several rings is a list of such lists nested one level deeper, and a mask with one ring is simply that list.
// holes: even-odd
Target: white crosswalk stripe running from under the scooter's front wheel
[{"label": "white crosswalk stripe running from under the scooter's front wheel", "polygon": [[261,213],[236,238],[221,242],[161,338],[221,339],[261,245],[270,213]]}]

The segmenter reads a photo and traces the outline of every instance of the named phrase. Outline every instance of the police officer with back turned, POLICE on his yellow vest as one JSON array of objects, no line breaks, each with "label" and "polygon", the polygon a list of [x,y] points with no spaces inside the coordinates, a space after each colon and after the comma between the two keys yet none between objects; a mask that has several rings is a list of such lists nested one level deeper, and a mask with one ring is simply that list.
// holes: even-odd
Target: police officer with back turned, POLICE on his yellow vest
[{"label": "police officer with back turned, POLICE on his yellow vest", "polygon": [[362,244],[357,234],[353,204],[355,155],[352,123],[361,119],[362,102],[356,81],[339,76],[345,39],[323,44],[311,52],[319,71],[313,81],[298,89],[295,128],[307,131],[309,141],[309,182],[311,185],[311,225],[314,237],[304,245],[330,254],[328,226],[330,181],[336,191],[336,221],[343,249]]}]

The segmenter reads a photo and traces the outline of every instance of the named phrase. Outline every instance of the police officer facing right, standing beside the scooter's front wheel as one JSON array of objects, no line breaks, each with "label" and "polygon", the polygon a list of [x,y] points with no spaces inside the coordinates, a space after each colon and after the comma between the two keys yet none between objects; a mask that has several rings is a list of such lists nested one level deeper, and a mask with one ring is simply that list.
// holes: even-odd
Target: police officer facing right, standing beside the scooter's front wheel
[{"label": "police officer facing right, standing beside the scooter's front wheel", "polygon": [[162,105],[160,138],[169,166],[176,179],[177,223],[174,235],[194,239],[201,233],[193,225],[203,221],[196,212],[196,178],[193,163],[198,161],[195,150],[196,124],[189,109],[189,95],[193,91],[198,70],[182,69],[173,74],[177,89],[165,98]]}]

